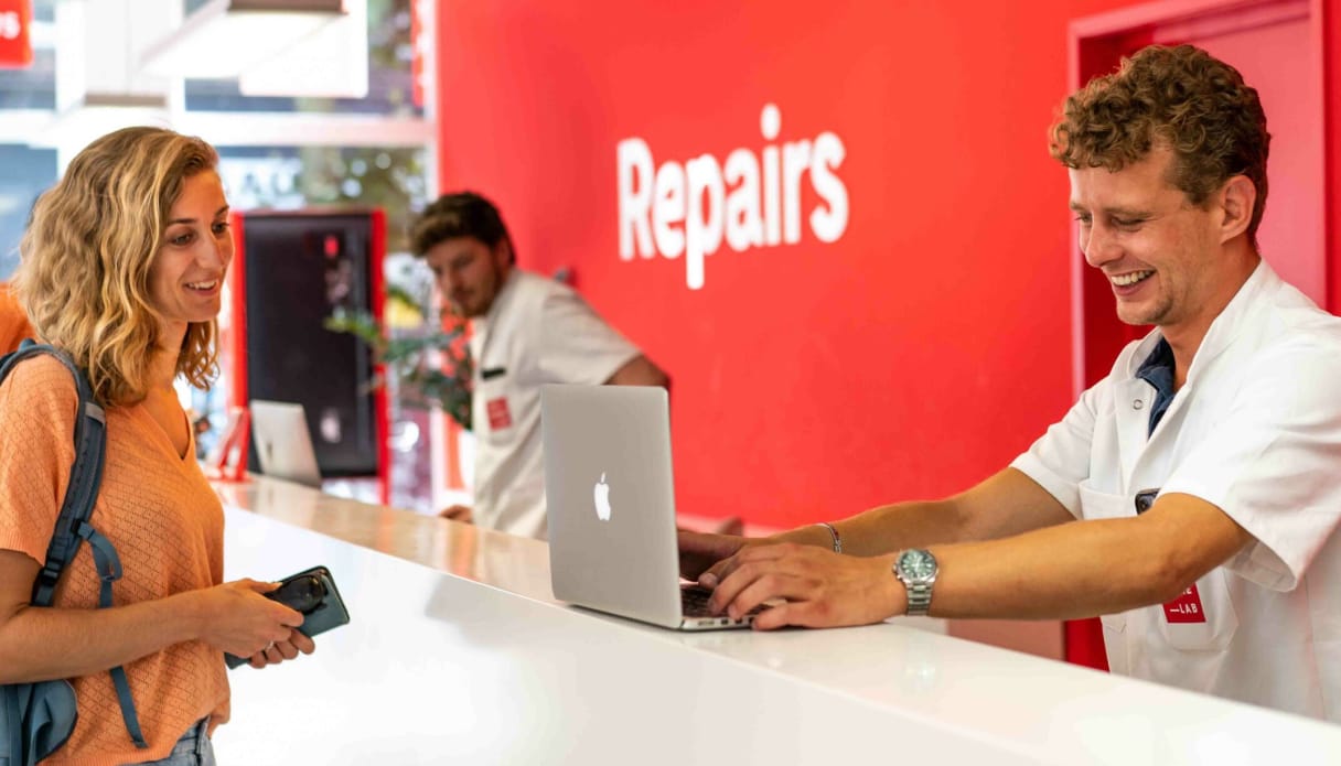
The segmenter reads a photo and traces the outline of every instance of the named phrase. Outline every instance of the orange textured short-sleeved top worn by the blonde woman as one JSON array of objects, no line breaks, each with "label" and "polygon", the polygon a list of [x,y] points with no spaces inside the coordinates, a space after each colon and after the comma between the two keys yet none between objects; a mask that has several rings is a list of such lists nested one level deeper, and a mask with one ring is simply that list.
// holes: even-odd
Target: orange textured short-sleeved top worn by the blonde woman
[{"label": "orange textured short-sleeved top worn by the blonde woman", "polygon": [[[74,462],[78,395],[56,359],[38,356],[0,386],[0,549],[46,560]],[[135,404],[107,410],[107,450],[93,525],[117,548],[123,576],[114,604],[164,599],[223,581],[224,512],[196,465]],[[55,607],[94,609],[99,580],[89,545],[60,577]],[[79,722],[44,763],[103,766],[168,757],[201,718],[228,719],[228,678],[219,649],[170,645],[125,666],[148,750],[126,734],[111,675],[71,679]]]}]

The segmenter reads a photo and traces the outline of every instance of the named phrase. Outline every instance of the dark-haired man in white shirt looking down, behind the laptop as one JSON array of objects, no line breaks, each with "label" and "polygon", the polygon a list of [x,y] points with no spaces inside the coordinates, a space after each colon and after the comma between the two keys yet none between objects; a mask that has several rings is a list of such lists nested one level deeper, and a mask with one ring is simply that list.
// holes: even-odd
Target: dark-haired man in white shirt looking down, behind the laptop
[{"label": "dark-haired man in white shirt looking down, behind the laptop", "polygon": [[665,387],[666,375],[571,288],[519,269],[512,237],[484,197],[440,197],[414,222],[412,244],[443,300],[471,320],[475,501],[443,516],[543,540],[540,386]]}]

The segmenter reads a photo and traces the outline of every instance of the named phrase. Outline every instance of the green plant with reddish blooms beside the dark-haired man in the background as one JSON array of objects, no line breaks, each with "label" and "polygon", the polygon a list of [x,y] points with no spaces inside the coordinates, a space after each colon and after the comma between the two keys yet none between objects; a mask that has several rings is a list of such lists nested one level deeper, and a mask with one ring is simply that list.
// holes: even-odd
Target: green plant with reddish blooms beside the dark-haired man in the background
[{"label": "green plant with reddish blooms beside the dark-haired man in the background", "polygon": [[[396,288],[390,288],[394,293]],[[392,300],[398,296],[389,295]],[[439,404],[461,427],[471,429],[471,376],[473,362],[465,343],[464,327],[439,329],[440,321],[428,323],[426,331],[384,332],[382,325],[367,312],[337,309],[325,321],[326,329],[347,332],[373,350],[373,358],[384,364],[398,382],[400,400],[406,407],[430,408]],[[441,366],[430,363],[441,355]],[[385,386],[381,376],[371,387]]]}]

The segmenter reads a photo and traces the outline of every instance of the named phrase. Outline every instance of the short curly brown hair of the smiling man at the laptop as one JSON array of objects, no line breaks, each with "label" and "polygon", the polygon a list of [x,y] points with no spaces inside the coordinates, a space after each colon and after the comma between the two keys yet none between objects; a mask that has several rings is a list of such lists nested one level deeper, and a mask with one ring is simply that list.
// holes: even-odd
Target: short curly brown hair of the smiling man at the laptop
[{"label": "short curly brown hair of the smiling man at the laptop", "polygon": [[1169,183],[1203,205],[1232,175],[1257,186],[1248,241],[1266,208],[1271,134],[1255,88],[1238,70],[1193,46],[1151,46],[1117,72],[1071,94],[1049,131],[1049,150],[1067,167],[1112,171],[1143,159],[1156,143],[1173,151]]}]

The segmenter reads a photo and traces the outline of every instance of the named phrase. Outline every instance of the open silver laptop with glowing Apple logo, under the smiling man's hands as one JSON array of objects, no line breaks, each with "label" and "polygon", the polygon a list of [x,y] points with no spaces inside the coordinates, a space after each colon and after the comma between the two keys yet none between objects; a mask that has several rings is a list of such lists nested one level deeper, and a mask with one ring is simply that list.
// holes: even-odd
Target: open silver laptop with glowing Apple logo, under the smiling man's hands
[{"label": "open silver laptop with glowing Apple logo, under the smiling man's hands", "polygon": [[645,386],[540,388],[550,579],[563,601],[685,631],[743,628],[680,584],[670,412]]}]

